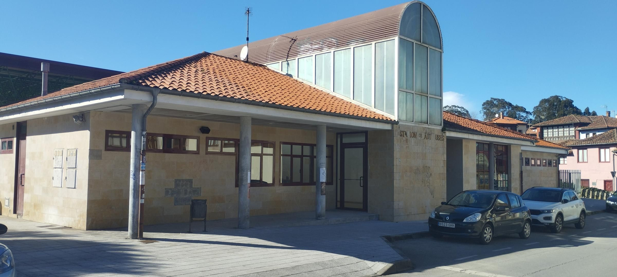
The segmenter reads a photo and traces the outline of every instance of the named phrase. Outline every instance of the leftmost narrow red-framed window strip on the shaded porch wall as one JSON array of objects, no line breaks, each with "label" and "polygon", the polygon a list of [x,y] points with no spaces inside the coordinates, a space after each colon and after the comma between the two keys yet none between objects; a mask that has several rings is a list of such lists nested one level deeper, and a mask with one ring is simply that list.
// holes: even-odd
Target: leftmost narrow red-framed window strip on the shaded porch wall
[{"label": "leftmost narrow red-framed window strip on the shaded porch wall", "polygon": [[[105,131],[105,151],[131,151],[131,132]],[[194,135],[146,134],[146,151],[154,153],[199,154],[199,137]]]}]

